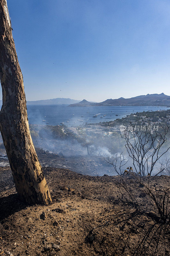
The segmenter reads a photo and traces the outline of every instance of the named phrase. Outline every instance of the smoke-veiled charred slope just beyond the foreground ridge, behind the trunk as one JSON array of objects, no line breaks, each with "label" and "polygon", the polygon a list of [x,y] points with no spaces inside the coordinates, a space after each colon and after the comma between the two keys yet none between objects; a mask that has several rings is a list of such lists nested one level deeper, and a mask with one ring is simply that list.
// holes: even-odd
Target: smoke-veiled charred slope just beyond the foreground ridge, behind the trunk
[{"label": "smoke-veiled charred slope just beyond the foreground ridge, behind the trunk", "polygon": [[[115,175],[113,167],[109,166],[101,156],[60,156],[40,148],[36,148],[36,152],[42,167],[68,168],[71,171],[92,176]],[[0,166],[9,166],[6,151],[3,148],[0,148]]]}]

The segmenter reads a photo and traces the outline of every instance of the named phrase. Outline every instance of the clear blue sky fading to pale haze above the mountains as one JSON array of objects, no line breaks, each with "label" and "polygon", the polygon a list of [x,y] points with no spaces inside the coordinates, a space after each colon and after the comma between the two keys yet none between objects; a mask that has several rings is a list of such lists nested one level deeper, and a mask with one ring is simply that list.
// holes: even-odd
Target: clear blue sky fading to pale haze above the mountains
[{"label": "clear blue sky fading to pale haze above the mountains", "polygon": [[170,95],[169,0],[7,0],[27,100]]}]

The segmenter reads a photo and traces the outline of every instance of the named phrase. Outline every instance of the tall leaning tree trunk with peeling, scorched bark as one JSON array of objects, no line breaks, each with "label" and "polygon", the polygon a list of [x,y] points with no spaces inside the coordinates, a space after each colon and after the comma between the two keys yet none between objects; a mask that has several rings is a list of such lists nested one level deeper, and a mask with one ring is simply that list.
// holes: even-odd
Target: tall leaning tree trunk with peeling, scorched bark
[{"label": "tall leaning tree trunk with peeling, scorched bark", "polygon": [[28,204],[50,204],[47,182],[29,131],[23,76],[6,0],[0,0],[0,80],[0,131],[18,196]]}]

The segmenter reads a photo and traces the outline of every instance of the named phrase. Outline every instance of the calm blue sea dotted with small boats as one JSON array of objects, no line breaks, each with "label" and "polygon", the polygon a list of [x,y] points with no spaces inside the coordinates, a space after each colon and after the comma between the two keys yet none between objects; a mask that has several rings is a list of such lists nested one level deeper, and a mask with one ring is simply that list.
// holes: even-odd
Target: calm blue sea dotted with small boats
[{"label": "calm blue sea dotted with small boats", "polygon": [[[113,121],[131,113],[167,110],[154,106],[69,107],[68,105],[27,105],[29,124],[80,126]],[[97,115],[97,117],[93,117]],[[118,116],[116,116],[118,115]]]}]

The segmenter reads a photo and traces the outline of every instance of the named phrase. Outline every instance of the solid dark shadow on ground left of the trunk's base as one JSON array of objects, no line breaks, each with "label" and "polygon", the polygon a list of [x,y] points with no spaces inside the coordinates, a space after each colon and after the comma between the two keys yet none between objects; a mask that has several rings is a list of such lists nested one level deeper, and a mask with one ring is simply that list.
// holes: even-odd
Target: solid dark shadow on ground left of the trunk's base
[{"label": "solid dark shadow on ground left of the trunk's base", "polygon": [[8,218],[15,212],[26,208],[26,204],[19,201],[17,194],[3,196],[0,198],[0,221]]}]

